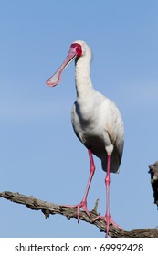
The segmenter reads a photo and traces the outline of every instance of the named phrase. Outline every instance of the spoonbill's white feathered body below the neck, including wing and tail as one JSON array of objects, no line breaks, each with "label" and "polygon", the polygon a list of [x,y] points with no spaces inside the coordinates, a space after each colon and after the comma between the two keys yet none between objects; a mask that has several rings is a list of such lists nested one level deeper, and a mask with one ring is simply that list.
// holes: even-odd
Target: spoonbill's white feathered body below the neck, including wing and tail
[{"label": "spoonbill's white feathered body below the neck, including wing and tail", "polygon": [[[116,172],[121,163],[123,149],[123,123],[116,105],[102,98],[96,101],[76,101],[72,108],[71,120],[79,140],[102,162],[103,170],[107,165],[107,148],[111,151],[111,171]],[[91,104],[91,102],[93,102]]]}]

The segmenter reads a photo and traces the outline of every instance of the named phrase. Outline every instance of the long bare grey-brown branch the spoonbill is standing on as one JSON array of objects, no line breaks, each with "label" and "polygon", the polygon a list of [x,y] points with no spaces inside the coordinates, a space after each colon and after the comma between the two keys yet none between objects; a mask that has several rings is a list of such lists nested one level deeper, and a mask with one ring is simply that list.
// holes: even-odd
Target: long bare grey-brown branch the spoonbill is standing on
[{"label": "long bare grey-brown branch the spoonbill is standing on", "polygon": [[[32,210],[41,210],[47,219],[49,215],[60,214],[67,219],[77,218],[76,217],[76,208],[68,208],[65,206],[49,203],[36,197],[28,197],[25,195],[21,195],[19,193],[5,191],[0,193],[0,197],[3,197],[7,200],[10,200],[17,204],[26,205],[27,208]],[[92,221],[95,219],[97,214],[97,206],[98,200],[94,206],[94,209],[90,211],[90,217],[84,212],[80,211],[79,219],[89,222],[92,225],[95,225],[100,231],[105,231],[105,221],[102,219],[98,219],[96,221]],[[134,229],[131,231],[125,231],[117,229],[113,226],[110,226],[109,235],[111,238],[158,238],[158,229]]]}]

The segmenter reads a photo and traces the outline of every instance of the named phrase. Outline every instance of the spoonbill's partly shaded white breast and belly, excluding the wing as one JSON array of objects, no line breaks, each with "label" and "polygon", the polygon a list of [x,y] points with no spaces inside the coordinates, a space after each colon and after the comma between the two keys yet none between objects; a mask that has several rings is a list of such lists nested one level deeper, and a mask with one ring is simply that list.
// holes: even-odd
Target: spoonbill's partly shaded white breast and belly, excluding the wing
[{"label": "spoonbill's partly shaded white breast and belly, excluding the wing", "polygon": [[86,147],[100,152],[105,151],[105,141],[111,144],[108,134],[105,133],[104,123],[94,106],[87,104],[80,107],[75,102],[71,119],[75,133]]}]

